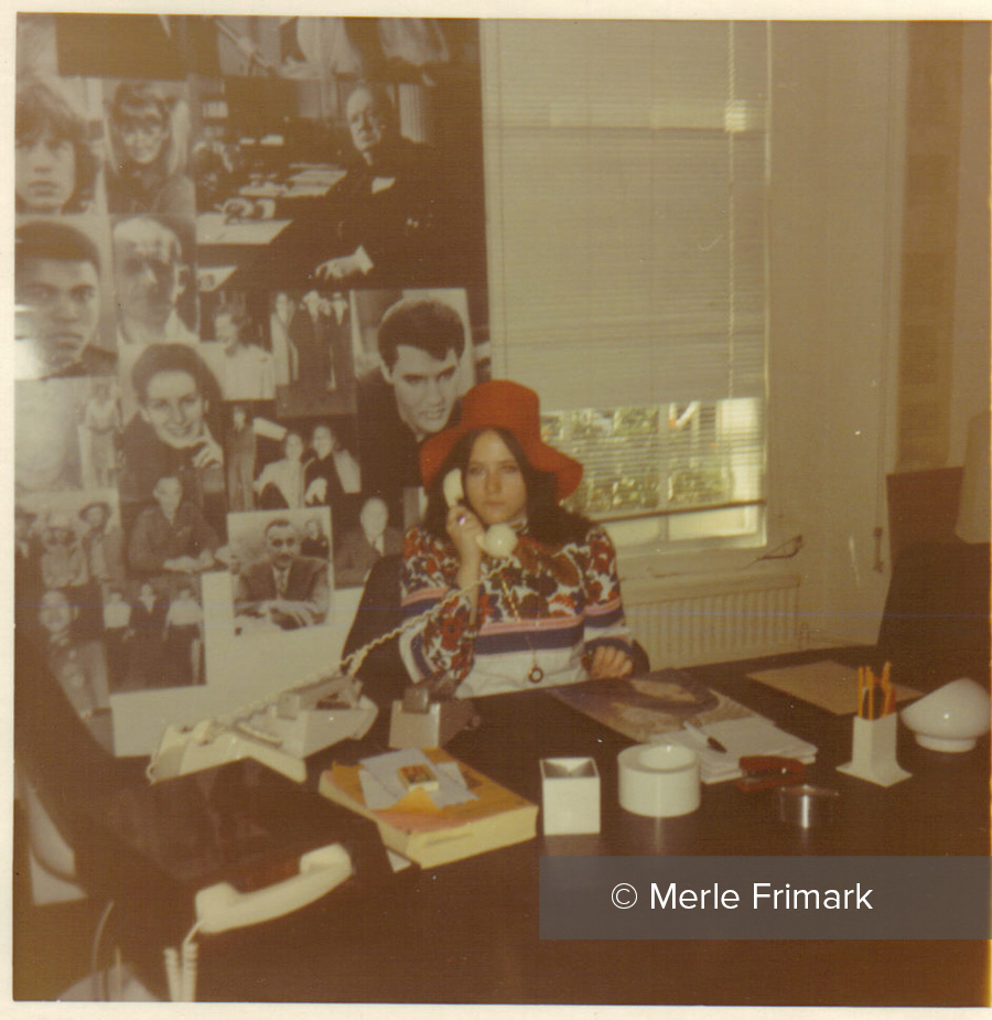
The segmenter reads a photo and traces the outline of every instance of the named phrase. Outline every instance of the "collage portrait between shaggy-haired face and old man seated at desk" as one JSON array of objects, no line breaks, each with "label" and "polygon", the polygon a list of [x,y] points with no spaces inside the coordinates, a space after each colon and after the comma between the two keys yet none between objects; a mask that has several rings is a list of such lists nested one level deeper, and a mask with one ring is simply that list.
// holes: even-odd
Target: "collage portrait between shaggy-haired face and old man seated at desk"
[{"label": "collage portrait between shaggy-haired face and old man seated at desk", "polygon": [[187,118],[148,82],[121,82],[110,105],[107,207],[111,213],[195,215],[186,175]]}]

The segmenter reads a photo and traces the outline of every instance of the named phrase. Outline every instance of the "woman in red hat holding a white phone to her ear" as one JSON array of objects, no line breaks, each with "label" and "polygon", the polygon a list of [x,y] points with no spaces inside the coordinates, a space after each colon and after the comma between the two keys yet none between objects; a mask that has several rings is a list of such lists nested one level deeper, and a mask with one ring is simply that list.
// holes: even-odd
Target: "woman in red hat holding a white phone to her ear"
[{"label": "woman in red hat holding a white phone to her ear", "polygon": [[[630,672],[613,545],[560,506],[582,465],[541,442],[537,394],[506,380],[471,389],[420,465],[428,507],[405,539],[402,604],[408,618],[435,611],[400,637],[414,683],[472,696]],[[453,470],[464,500],[449,505]],[[494,525],[517,536],[505,559],[478,544]]]}]

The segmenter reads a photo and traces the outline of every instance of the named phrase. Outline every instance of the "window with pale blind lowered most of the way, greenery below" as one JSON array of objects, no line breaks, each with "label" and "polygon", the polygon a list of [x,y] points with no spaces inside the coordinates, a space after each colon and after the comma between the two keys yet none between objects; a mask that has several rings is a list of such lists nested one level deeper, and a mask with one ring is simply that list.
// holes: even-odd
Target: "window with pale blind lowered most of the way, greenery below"
[{"label": "window with pale blind lowered most of the way, greenery below", "polygon": [[761,539],[766,26],[484,33],[495,374],[585,465],[576,508]]}]

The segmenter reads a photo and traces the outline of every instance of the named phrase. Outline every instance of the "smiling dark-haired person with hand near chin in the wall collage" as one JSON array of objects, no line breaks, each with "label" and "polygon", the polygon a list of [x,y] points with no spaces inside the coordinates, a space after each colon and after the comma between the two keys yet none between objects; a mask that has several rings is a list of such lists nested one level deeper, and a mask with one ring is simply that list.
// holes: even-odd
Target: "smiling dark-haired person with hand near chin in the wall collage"
[{"label": "smiling dark-haired person with hand near chin in the wall collage", "polygon": [[211,422],[220,390],[200,355],[184,344],[151,344],[134,362],[131,383],[138,414],[121,439],[121,500],[148,502],[168,475],[205,508],[223,502],[224,451]]}]

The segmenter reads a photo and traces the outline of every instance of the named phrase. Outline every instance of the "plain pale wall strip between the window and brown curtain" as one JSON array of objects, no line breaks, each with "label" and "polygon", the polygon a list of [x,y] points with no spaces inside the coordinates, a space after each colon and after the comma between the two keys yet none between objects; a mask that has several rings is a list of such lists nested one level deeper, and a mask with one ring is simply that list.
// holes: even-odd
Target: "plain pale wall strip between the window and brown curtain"
[{"label": "plain pale wall strip between the window and brown curtain", "polygon": [[813,645],[873,642],[887,571],[904,28],[773,28],[769,540],[801,533]]}]

